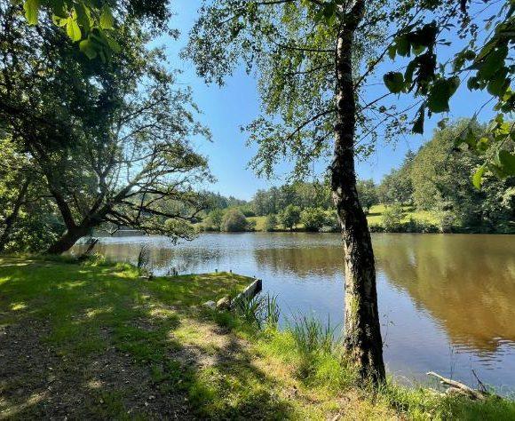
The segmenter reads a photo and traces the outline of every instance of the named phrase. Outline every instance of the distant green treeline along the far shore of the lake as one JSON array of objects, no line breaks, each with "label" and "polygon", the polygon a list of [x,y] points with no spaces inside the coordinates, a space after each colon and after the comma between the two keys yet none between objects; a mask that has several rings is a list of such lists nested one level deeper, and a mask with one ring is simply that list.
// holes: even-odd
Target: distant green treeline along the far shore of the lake
[{"label": "distant green treeline along the far shore of the lake", "polygon": [[[374,205],[386,205],[380,222],[369,223],[372,231],[515,231],[515,178],[486,176],[480,190],[472,185],[471,177],[480,165],[479,158],[456,148],[456,139],[465,123],[435,131],[430,141],[417,152],[409,151],[400,168],[392,170],[379,184],[372,179],[358,182],[365,212]],[[482,128],[478,125],[475,130]],[[267,217],[261,229],[270,231],[296,227],[311,231],[338,229],[329,182],[323,179],[258,190],[249,202],[212,195],[210,203],[203,224],[205,229],[255,229],[253,222],[257,218],[249,217]],[[226,210],[230,210],[230,219],[241,223],[224,225]],[[421,211],[429,212],[431,220],[417,218]]]}]

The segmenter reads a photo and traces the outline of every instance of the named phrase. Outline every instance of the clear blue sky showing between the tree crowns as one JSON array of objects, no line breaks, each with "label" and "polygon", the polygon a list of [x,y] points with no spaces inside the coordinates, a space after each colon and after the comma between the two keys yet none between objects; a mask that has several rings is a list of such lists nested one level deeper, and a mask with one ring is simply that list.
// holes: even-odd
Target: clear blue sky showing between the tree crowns
[{"label": "clear blue sky showing between the tree crowns", "polygon": [[[178,52],[186,44],[188,31],[194,23],[200,3],[199,0],[175,0],[172,3],[175,16],[170,21],[170,27],[178,28],[181,35],[178,41],[163,37],[156,40],[155,44],[165,47],[170,60],[170,68],[178,68],[182,71],[182,74],[178,76],[178,82],[191,86],[194,100],[202,109],[200,120],[212,132],[213,141],[211,143],[199,142],[197,147],[202,155],[209,157],[211,171],[218,179],[217,183],[210,186],[210,190],[222,195],[234,195],[249,200],[258,188],[278,185],[282,181],[281,178],[259,179],[250,169],[246,168],[247,163],[256,153],[256,147],[246,145],[245,133],[240,131],[240,127],[250,123],[259,114],[256,80],[239,69],[226,80],[226,85],[221,88],[216,84],[208,86],[196,76],[191,62],[178,58]],[[456,42],[456,40],[453,41]],[[377,74],[383,75],[384,71],[391,69],[392,64],[387,60]],[[373,89],[375,91],[369,92],[370,98],[375,98],[384,87],[378,86]],[[471,94],[462,84],[451,100],[453,113],[448,117],[454,119],[471,116],[478,104],[484,102],[485,98],[480,94]],[[406,101],[408,104],[408,99],[399,99],[400,103],[402,101]],[[388,145],[379,142],[374,155],[371,155],[367,161],[357,163],[359,177],[379,181],[384,174],[400,165],[408,149],[416,150],[424,140],[429,139],[432,129],[441,117],[441,115],[435,115],[429,121],[426,119],[424,137],[408,135],[397,139],[394,144]],[[490,117],[491,112],[485,111],[481,114],[483,121]],[[278,175],[286,173],[288,168],[288,163],[281,165]]]}]

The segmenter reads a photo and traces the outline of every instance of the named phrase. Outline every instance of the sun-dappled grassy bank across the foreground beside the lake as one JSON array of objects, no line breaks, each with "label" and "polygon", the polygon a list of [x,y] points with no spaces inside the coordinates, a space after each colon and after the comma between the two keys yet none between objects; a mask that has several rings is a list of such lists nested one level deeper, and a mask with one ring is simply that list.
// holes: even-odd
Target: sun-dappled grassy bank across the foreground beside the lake
[{"label": "sun-dappled grassy bank across the foreground beside the lake", "polygon": [[372,393],[316,326],[202,306],[249,282],[1,258],[0,418],[514,419],[511,401]]}]

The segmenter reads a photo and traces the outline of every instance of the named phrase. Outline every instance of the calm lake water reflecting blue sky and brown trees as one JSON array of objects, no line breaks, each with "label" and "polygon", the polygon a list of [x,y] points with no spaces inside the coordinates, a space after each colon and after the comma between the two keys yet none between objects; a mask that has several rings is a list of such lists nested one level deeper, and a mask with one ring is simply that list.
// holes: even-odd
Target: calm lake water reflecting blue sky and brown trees
[{"label": "calm lake water reflecting blue sky and brown trees", "polygon": [[[515,391],[515,235],[374,234],[387,368],[400,380],[424,373]],[[155,274],[228,271],[258,276],[283,317],[313,312],[342,326],[343,250],[338,234],[202,234],[104,238],[98,251],[136,262],[149,244]]]}]

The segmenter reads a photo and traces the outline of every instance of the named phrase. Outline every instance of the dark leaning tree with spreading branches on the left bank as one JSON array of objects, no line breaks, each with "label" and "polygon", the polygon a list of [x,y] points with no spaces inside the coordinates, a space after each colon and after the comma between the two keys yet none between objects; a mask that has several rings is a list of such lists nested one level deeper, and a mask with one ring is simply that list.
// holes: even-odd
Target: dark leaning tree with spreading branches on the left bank
[{"label": "dark leaning tree with spreading branches on the left bank", "polygon": [[191,238],[189,222],[204,207],[194,186],[210,174],[187,139],[208,133],[194,121],[189,91],[162,68],[162,52],[147,50],[138,27],[120,28],[123,54],[99,68],[48,21],[35,30],[6,11],[4,28],[17,29],[3,39],[0,122],[27,150],[67,227],[48,252],[106,223]]}]

